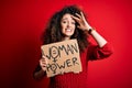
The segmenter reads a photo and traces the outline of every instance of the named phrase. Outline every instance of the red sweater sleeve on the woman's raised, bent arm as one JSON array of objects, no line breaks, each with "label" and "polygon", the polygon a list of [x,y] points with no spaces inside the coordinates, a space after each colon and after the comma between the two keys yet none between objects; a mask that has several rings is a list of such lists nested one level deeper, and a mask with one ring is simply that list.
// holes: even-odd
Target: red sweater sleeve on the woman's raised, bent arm
[{"label": "red sweater sleeve on the woman's raised, bent arm", "polygon": [[102,47],[89,44],[88,46],[88,61],[96,61],[109,57],[113,53],[112,46],[107,43]]}]

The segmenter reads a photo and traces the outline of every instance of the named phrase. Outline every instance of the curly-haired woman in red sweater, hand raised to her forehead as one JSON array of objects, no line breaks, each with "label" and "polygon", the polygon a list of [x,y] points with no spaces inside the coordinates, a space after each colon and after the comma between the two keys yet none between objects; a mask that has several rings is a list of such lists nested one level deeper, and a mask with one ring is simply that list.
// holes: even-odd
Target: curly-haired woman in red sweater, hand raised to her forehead
[{"label": "curly-haired woman in red sweater, hand raised to her forehead", "polygon": [[[88,41],[91,35],[98,45]],[[86,21],[84,12],[76,6],[65,7],[51,19],[43,36],[44,44],[76,38],[80,51],[82,72],[51,77],[50,88],[87,88],[88,61],[101,59],[112,54],[109,43]],[[42,56],[34,78],[46,76],[46,57]]]}]

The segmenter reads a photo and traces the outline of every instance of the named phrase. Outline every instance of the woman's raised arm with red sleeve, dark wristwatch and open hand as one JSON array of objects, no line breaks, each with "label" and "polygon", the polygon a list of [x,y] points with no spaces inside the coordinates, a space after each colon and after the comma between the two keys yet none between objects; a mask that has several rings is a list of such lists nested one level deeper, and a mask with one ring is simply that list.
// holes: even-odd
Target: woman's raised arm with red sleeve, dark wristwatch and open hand
[{"label": "woman's raised arm with red sleeve, dark wristwatch and open hand", "polygon": [[94,30],[89,23],[86,21],[82,12],[80,14],[77,14],[77,16],[73,15],[73,19],[75,19],[78,22],[78,28],[87,33],[89,33],[98,45],[91,45],[88,46],[88,58],[94,59],[100,59],[108,57],[112,54],[113,50],[111,45],[96,31]]}]

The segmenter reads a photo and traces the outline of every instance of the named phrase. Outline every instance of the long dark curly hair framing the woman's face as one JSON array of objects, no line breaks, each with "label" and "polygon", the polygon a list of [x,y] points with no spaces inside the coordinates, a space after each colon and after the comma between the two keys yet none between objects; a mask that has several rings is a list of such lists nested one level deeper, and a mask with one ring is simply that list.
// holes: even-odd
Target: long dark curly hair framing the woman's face
[{"label": "long dark curly hair framing the woman's face", "polygon": [[[64,14],[69,13],[72,15],[77,16],[75,13],[80,14],[80,9],[77,6],[68,6],[62,9],[59,12],[56,12],[47,23],[44,33],[42,34],[43,44],[50,44],[55,42],[61,42],[64,37],[62,34],[61,20]],[[78,23],[76,22],[75,33],[70,38],[77,38],[80,52],[88,46],[88,35],[80,29],[77,28]]]}]

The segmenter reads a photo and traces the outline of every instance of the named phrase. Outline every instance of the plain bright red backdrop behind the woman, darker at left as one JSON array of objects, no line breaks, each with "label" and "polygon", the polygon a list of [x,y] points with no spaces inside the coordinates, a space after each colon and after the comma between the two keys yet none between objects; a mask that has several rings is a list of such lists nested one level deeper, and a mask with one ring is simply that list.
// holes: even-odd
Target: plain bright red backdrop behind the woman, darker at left
[{"label": "plain bright red backdrop behind the woman, darker at left", "polygon": [[114,48],[103,61],[89,62],[89,88],[132,88],[131,0],[0,0],[0,88],[46,88],[32,77],[50,16],[66,4],[79,4]]}]

